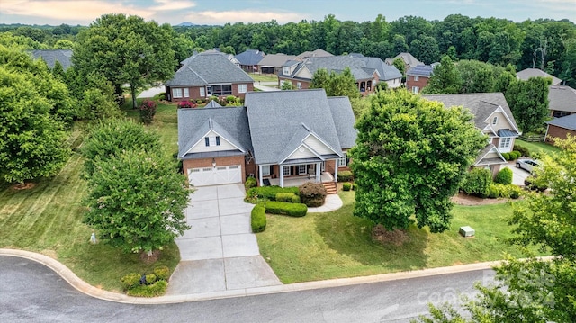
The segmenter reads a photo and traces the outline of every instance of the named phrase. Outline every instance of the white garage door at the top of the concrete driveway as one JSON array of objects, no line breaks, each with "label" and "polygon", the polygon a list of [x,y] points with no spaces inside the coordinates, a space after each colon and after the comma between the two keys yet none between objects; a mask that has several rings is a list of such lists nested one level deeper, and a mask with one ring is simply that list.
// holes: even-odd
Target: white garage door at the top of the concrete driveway
[{"label": "white garage door at the top of the concrete driveway", "polygon": [[240,183],[241,170],[239,165],[191,168],[188,169],[188,180],[194,186]]}]

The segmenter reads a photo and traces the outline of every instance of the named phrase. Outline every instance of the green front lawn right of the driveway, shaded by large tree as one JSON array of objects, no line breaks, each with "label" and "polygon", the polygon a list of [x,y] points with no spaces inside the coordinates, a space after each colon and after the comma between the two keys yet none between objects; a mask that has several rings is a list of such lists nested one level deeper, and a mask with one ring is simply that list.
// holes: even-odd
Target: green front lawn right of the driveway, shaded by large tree
[{"label": "green front lawn right of the driveway, shaded by large tree", "polygon": [[[354,217],[354,192],[341,192],[344,206],[303,218],[266,215],[266,230],[257,234],[262,256],[283,283],[384,274],[421,268],[522,256],[506,246],[510,237],[509,204],[456,206],[452,227],[441,234],[410,227],[410,240],[401,247],[384,246],[370,237],[371,223]],[[458,228],[470,225],[475,238],[462,238]]]}]

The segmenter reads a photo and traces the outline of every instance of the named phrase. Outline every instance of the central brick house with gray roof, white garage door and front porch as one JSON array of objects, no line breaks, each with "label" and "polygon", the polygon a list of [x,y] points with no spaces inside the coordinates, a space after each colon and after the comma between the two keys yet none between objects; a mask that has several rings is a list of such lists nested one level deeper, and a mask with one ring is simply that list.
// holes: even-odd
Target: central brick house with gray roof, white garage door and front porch
[{"label": "central brick house with gray roof, white garage door and front porch", "polygon": [[195,186],[335,182],[356,141],[347,97],[323,89],[250,92],[244,107],[178,109],[178,158]]}]

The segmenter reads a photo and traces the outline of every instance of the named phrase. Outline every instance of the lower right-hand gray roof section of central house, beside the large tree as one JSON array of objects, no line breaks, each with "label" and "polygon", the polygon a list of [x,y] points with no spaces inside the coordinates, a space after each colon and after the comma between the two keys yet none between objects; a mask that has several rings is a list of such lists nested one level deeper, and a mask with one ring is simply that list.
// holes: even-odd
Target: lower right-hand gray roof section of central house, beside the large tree
[{"label": "lower right-hand gray roof section of central house, beside the large tree", "polygon": [[328,98],[332,120],[338,132],[340,147],[352,148],[356,144],[358,130],[354,128],[356,118],[352,112],[352,105],[347,96],[330,96]]}]

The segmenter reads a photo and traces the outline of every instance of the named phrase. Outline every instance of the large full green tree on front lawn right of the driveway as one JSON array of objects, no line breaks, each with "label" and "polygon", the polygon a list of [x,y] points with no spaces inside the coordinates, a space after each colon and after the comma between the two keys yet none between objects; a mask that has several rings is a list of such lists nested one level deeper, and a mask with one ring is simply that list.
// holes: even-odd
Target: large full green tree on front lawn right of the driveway
[{"label": "large full green tree on front lawn right of the driveway", "polygon": [[356,123],[354,214],[386,229],[442,232],[466,169],[485,145],[471,113],[407,91],[379,91]]}]

